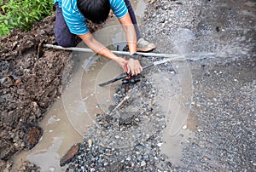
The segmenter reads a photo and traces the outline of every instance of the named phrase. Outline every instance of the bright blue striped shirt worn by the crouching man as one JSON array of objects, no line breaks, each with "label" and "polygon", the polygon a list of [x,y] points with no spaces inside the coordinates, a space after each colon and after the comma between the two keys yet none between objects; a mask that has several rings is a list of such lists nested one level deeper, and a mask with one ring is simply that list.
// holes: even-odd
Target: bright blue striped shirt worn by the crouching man
[{"label": "bright blue striped shirt worn by the crouching man", "polygon": [[[59,3],[70,32],[76,35],[83,35],[89,32],[84,15],[79,12],[77,0],[54,0],[54,3]],[[113,13],[118,18],[122,18],[128,13],[124,0],[109,0],[109,3]]]}]

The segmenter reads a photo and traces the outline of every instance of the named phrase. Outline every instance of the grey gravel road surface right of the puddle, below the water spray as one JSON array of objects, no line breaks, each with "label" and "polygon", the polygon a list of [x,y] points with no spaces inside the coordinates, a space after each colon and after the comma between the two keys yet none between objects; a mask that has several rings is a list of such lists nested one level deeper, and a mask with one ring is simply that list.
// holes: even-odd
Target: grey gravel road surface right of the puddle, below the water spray
[{"label": "grey gravel road surface right of the puddle, below the water spray", "polygon": [[255,170],[255,65],[255,58],[234,60],[195,77],[191,111],[198,126],[177,171]]}]

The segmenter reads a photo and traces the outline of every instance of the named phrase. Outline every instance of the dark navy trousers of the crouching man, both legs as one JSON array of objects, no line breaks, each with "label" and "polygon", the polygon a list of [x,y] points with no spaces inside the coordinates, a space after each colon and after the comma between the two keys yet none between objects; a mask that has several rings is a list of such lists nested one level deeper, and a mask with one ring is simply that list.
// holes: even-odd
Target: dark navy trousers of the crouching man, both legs
[{"label": "dark navy trousers of the crouching man, both legs", "polygon": [[[134,11],[132,9],[130,0],[125,0],[125,4],[130,14],[132,24],[135,27],[135,32],[137,34],[137,40],[138,40],[142,36],[139,32],[139,29],[137,26],[137,20],[136,20]],[[69,32],[66,21],[64,20],[64,17],[62,14],[62,9],[59,7],[58,3],[55,3],[55,9],[56,9],[56,19],[55,19],[54,32],[55,32],[56,42],[62,47],[72,47],[74,46],[76,35]]]}]

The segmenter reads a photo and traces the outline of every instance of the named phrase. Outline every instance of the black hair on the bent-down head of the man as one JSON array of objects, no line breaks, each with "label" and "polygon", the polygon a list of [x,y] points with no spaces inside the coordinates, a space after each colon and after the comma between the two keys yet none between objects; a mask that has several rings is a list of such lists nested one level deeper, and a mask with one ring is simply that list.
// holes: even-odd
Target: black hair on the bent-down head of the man
[{"label": "black hair on the bent-down head of the man", "polygon": [[109,0],[78,0],[77,4],[81,14],[94,23],[100,24],[108,18]]}]

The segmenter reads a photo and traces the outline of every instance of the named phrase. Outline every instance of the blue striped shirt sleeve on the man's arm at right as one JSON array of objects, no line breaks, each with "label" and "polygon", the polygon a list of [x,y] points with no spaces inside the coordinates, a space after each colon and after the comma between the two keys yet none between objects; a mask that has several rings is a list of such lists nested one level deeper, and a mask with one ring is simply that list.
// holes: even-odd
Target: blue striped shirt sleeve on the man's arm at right
[{"label": "blue striped shirt sleeve on the man's arm at right", "polygon": [[122,18],[125,14],[128,13],[128,9],[125,5],[124,0],[109,0],[110,7],[113,10],[113,13],[118,17]]}]

